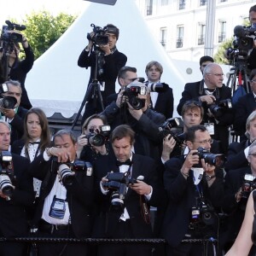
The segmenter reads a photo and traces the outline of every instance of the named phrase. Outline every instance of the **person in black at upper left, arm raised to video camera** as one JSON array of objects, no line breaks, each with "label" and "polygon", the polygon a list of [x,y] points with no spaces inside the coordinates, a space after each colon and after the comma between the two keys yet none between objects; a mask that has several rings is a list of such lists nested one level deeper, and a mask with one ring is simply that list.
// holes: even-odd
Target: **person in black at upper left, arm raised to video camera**
[{"label": "person in black at upper left, arm raised to video camera", "polygon": [[[13,25],[13,24],[11,24]],[[0,83],[8,79],[18,80],[22,89],[22,96],[20,99],[20,106],[26,109],[32,108],[25,88],[26,74],[32,69],[34,63],[34,54],[31,46],[28,44],[26,37],[17,29],[8,30],[9,34],[20,35],[19,42],[4,41],[3,36],[0,41]],[[20,61],[20,44],[25,52],[25,59]],[[7,63],[8,61],[8,63]],[[5,70],[8,66],[8,70]]]}]

